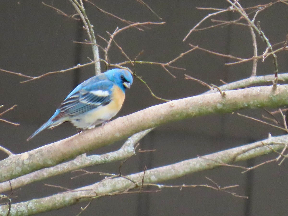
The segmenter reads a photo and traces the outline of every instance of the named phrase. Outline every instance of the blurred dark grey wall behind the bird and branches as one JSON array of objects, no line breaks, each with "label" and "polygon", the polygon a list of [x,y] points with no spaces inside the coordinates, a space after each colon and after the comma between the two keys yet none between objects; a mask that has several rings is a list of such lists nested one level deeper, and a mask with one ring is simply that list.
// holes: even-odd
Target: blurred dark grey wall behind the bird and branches
[{"label": "blurred dark grey wall behind the bird and branches", "polygon": [[[270,1],[241,1],[243,7],[269,3]],[[63,10],[68,15],[74,13],[69,1],[45,1]],[[147,7],[135,0],[93,1],[103,10],[134,22],[160,22]],[[199,45],[213,51],[231,54],[243,58],[253,55],[252,41],[246,26],[226,26],[192,33],[186,42],[182,39],[189,30],[211,11],[197,10],[196,7],[227,8],[226,1],[152,1],[147,3],[166,22],[164,25],[149,26],[144,32],[131,28],[115,37],[115,41],[132,59],[144,50],[139,60],[168,62],[181,52],[190,49],[188,43]],[[112,33],[116,26],[126,24],[107,16],[86,3],[86,11],[96,35],[109,38],[106,31]],[[261,27],[272,44],[285,40],[288,33],[288,5],[278,3],[257,16]],[[233,20],[238,15],[228,12],[217,19]],[[0,1],[0,68],[16,71],[25,75],[37,76],[49,71],[73,67],[78,63],[88,62],[92,58],[88,45],[79,45],[73,41],[88,39],[81,22],[61,16],[41,1]],[[214,23],[213,23],[214,24]],[[204,22],[203,27],[211,25]],[[264,43],[257,37],[259,54],[265,51]],[[97,42],[105,47],[99,37]],[[103,52],[101,52],[103,57]],[[121,52],[113,45],[110,60],[117,63],[125,60]],[[279,71],[288,71],[288,55],[277,55]],[[232,82],[251,75],[252,62],[241,65],[225,66],[229,59],[214,56],[196,50],[184,56],[175,64],[186,71],[171,69],[176,76],[171,77],[160,66],[137,65],[136,71],[150,86],[154,93],[162,98],[177,99],[200,94],[207,89],[199,83],[185,80],[184,73],[208,84],[221,85],[219,79]],[[102,71],[104,70],[104,65]],[[257,75],[272,74],[272,58],[259,61]],[[13,153],[21,153],[71,136],[77,132],[71,124],[65,123],[54,130],[45,130],[28,143],[27,137],[41,124],[46,122],[58,105],[77,84],[94,75],[93,66],[48,75],[31,82],[19,83],[23,77],[0,71],[0,105],[1,111],[14,104],[17,107],[2,116],[12,122],[13,126],[0,122],[0,145]],[[139,80],[135,79],[132,88],[126,92],[126,100],[117,116],[123,116],[144,109],[151,105],[163,103],[155,99]],[[261,109],[243,110],[255,118],[261,118]],[[122,173],[130,174],[148,168],[179,162],[181,160],[210,154],[216,151],[236,147],[249,142],[265,139],[268,133],[273,136],[283,132],[275,128],[242,118],[236,114],[209,115],[201,118],[187,119],[163,125],[148,134],[141,142],[141,149],[156,149],[155,152],[140,153],[129,159],[122,168]],[[123,142],[97,149],[88,154],[101,154],[114,151]],[[0,152],[0,159],[6,157]],[[276,157],[268,155],[240,163],[253,166]],[[117,173],[120,162],[93,166],[90,171]],[[187,175],[166,184],[212,184],[205,179],[209,177],[221,186],[239,185],[232,190],[249,199],[236,198],[228,193],[207,188],[163,189],[158,193],[128,194],[104,197],[94,200],[83,215],[287,215],[287,162],[278,166],[276,163],[261,166],[251,172],[241,174],[240,169],[221,167],[210,171]],[[98,175],[82,176],[70,180],[75,173],[56,176],[33,183],[16,190],[12,202],[31,198],[49,196],[61,192],[57,188],[44,186],[44,183],[77,188],[101,180]],[[152,189],[152,188],[150,188]],[[9,194],[9,193],[8,193]],[[77,215],[86,203],[79,203],[65,209],[40,215]]]}]

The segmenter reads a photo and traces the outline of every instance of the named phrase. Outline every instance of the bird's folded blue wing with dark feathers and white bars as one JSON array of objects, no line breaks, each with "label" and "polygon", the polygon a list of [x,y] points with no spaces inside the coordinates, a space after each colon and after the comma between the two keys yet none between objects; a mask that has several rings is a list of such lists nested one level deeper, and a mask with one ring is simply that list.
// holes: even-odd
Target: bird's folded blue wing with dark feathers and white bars
[{"label": "bird's folded blue wing with dark feathers and white bars", "polygon": [[109,104],[113,85],[113,82],[109,80],[102,80],[81,86],[77,91],[71,92],[62,102],[58,108],[60,113],[54,119],[69,115],[81,115],[99,106]]}]

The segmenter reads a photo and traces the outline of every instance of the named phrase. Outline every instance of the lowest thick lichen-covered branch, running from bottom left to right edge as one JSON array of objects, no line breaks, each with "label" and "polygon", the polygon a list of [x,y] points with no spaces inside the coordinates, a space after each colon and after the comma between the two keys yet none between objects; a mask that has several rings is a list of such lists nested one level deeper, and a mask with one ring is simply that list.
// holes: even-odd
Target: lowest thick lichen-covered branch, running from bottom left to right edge
[{"label": "lowest thick lichen-covered branch, running from bottom left to right edge", "polygon": [[[144,172],[128,175],[126,178],[107,178],[95,184],[68,192],[12,204],[10,215],[32,215],[60,209],[78,202],[91,200],[91,198],[121,194],[130,189],[141,187],[142,181],[145,186],[145,184],[158,183],[203,170],[211,170],[222,166],[222,164],[232,164],[281,150],[287,146],[287,144],[288,135],[270,137],[266,140],[248,145],[219,151],[190,160],[184,160],[168,166],[145,170],[144,179]],[[161,188],[161,185],[159,185],[159,188]],[[8,212],[8,206],[0,206],[0,211],[3,213]]]}]

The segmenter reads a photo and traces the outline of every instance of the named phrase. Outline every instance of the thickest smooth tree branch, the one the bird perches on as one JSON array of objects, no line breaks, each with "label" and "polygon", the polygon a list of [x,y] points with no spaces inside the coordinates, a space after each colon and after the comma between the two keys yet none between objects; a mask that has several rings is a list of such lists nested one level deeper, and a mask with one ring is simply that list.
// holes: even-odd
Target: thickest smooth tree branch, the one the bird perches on
[{"label": "thickest smooth tree branch, the one the bird perches on", "polygon": [[220,93],[203,94],[155,105],[117,118],[104,126],[48,144],[0,161],[0,181],[55,166],[92,149],[110,145],[133,134],[168,122],[212,113],[231,113],[238,109],[288,105],[288,85],[251,87]]}]

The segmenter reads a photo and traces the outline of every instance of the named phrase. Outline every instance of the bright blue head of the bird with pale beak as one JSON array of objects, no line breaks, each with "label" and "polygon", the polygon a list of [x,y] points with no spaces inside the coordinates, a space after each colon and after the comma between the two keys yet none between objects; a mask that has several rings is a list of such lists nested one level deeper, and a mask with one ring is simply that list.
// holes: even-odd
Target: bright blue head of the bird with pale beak
[{"label": "bright blue head of the bird with pale beak", "polygon": [[125,92],[126,88],[130,88],[133,82],[133,77],[131,73],[126,69],[111,69],[109,71],[104,72],[108,79],[112,82],[115,82],[123,92]]}]

